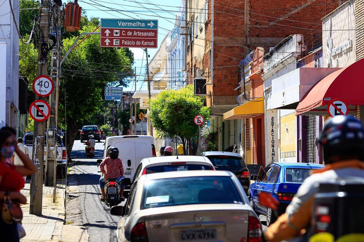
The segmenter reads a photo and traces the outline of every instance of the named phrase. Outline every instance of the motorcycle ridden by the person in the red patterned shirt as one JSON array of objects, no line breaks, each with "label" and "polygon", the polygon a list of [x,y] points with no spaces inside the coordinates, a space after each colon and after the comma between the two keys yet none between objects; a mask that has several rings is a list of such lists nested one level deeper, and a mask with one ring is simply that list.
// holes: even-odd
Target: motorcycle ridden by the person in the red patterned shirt
[{"label": "motorcycle ridden by the person in the red patterned shirt", "polygon": [[[97,160],[97,167],[99,167],[102,160]],[[98,171],[101,172],[101,171]],[[105,191],[105,205],[108,207],[112,207],[115,205],[120,204],[125,199],[123,197],[120,197],[120,187],[121,183],[115,179],[108,179],[105,182],[104,191]]]}]

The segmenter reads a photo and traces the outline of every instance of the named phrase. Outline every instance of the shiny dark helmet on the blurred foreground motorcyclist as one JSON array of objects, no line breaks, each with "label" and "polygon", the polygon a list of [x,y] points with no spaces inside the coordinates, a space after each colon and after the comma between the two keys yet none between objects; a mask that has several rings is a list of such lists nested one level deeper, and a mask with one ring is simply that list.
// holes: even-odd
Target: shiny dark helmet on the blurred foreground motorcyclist
[{"label": "shiny dark helmet on the blurred foreground motorcyclist", "polygon": [[325,163],[364,160],[363,124],[352,116],[335,116],[325,125],[318,139],[323,145]]}]

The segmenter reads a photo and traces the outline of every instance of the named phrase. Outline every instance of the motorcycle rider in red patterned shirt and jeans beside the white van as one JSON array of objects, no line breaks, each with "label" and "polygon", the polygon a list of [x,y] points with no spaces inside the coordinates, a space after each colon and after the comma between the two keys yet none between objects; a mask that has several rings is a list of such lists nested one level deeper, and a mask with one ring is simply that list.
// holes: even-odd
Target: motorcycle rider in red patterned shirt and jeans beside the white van
[{"label": "motorcycle rider in red patterned shirt and jeans beside the white van", "polygon": [[102,177],[100,177],[99,180],[102,193],[100,201],[105,201],[104,186],[106,180],[108,179],[115,179],[120,182],[120,198],[125,200],[125,198],[123,197],[125,185],[121,184],[122,180],[125,178],[124,177],[125,165],[123,161],[118,157],[119,157],[119,149],[117,147],[110,147],[108,149],[108,157],[106,157],[100,163],[100,171],[104,174]]}]

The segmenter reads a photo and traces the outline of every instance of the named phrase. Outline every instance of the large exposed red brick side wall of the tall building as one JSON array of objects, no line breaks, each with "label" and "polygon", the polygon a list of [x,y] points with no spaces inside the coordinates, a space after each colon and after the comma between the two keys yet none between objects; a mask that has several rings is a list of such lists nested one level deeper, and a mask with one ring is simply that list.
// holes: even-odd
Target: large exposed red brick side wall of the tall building
[{"label": "large exposed red brick side wall of the tall building", "polygon": [[[337,7],[337,0],[214,0],[214,85],[207,86],[214,97],[207,106],[215,100],[216,105],[236,104],[238,63],[256,47],[269,50],[286,36],[297,33],[303,34],[310,46],[321,43],[321,18]],[[204,67],[210,75],[211,0],[208,12]],[[225,97],[221,100],[219,96]]]}]

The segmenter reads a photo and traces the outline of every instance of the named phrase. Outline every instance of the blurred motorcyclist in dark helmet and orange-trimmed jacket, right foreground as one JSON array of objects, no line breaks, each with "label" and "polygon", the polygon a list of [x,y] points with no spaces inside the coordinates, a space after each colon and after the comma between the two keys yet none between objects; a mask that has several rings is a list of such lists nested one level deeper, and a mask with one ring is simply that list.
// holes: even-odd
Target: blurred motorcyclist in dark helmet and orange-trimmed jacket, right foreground
[{"label": "blurred motorcyclist in dark helmet and orange-trimmed jacket, right foreground", "polygon": [[[264,231],[263,241],[309,241],[306,231],[309,231],[319,184],[364,179],[364,130],[359,120],[351,116],[332,118],[325,125],[319,142],[323,145],[326,167],[313,171],[313,175],[302,183],[286,212]],[[274,209],[278,204],[273,200],[263,205]]]}]

